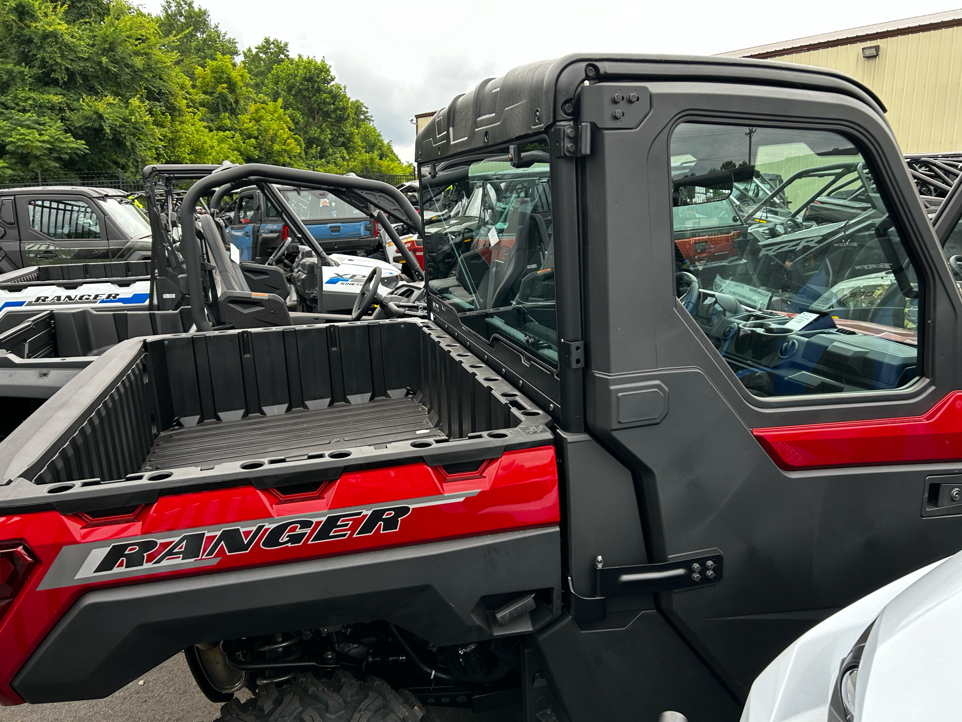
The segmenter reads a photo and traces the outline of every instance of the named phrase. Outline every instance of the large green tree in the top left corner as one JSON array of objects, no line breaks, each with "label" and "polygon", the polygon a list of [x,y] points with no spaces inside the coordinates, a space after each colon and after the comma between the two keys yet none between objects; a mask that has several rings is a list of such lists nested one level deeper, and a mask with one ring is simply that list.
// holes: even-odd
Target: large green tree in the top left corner
[{"label": "large green tree in the top left corner", "polygon": [[[81,9],[92,13],[76,17]],[[186,79],[122,0],[0,0],[0,170],[136,171],[183,113]]]}]

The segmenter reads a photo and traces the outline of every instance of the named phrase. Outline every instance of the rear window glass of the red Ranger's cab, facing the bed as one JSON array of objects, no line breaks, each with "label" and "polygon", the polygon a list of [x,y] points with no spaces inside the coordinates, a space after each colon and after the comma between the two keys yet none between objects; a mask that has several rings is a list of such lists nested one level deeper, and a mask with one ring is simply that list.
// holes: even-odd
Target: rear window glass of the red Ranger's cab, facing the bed
[{"label": "rear window glass of the red Ranger's cab, facing the bed", "polygon": [[545,142],[453,160],[421,180],[428,286],[483,338],[558,365],[551,184]]}]

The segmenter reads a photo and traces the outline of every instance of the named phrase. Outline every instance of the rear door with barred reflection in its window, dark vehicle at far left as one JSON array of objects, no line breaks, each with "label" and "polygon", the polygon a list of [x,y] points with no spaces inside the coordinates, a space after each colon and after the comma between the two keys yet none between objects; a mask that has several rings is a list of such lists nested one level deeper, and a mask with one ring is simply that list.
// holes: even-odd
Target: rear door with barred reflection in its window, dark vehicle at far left
[{"label": "rear door with barred reflection in its window, dark vehicle at far left", "polygon": [[80,195],[17,195],[24,266],[103,263],[110,245],[103,214]]}]

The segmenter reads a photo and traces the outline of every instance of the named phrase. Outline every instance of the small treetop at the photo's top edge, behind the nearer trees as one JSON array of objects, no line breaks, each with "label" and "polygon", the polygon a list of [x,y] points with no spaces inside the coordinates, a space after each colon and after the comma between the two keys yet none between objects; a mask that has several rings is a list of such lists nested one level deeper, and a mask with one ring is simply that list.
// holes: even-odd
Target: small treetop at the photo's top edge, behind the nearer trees
[{"label": "small treetop at the photo's top edge, behind the nearer trees", "polygon": [[237,40],[212,22],[211,13],[195,6],[193,0],[164,0],[157,25],[189,78],[194,65],[203,65],[218,54],[232,58],[238,55]]}]

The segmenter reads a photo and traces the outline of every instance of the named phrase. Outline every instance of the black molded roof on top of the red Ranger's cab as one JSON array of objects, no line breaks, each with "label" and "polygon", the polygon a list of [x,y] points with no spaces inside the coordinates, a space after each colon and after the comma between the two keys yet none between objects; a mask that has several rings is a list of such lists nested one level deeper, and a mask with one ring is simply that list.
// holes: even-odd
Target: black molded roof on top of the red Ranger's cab
[{"label": "black molded roof on top of the red Ranger's cab", "polygon": [[827,90],[856,98],[879,115],[872,90],[845,73],[810,65],[683,55],[567,55],[487,78],[438,111],[418,133],[418,163],[506,142],[568,117],[563,108],[585,80],[700,80]]}]

